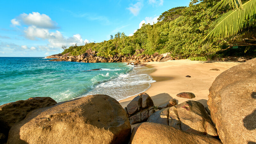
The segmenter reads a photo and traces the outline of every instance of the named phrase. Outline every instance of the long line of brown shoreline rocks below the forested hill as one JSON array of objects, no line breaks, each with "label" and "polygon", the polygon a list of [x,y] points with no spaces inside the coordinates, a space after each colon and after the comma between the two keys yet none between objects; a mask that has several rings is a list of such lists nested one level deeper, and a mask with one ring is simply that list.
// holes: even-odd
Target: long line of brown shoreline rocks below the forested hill
[{"label": "long line of brown shoreline rocks below the forested hill", "polygon": [[152,62],[152,61],[166,61],[166,60],[174,60],[169,56],[170,53],[165,53],[159,55],[158,52],[153,55],[145,55],[142,54],[144,52],[143,49],[136,50],[136,53],[132,56],[117,56],[105,58],[102,56],[97,56],[97,52],[92,51],[91,49],[87,50],[85,53],[78,56],[69,56],[70,53],[55,54],[51,56],[47,56],[46,58],[55,58],[50,61],[76,61],[76,62],[86,62],[86,63],[98,63],[98,62],[127,62],[127,64],[138,65],[140,62]]}]

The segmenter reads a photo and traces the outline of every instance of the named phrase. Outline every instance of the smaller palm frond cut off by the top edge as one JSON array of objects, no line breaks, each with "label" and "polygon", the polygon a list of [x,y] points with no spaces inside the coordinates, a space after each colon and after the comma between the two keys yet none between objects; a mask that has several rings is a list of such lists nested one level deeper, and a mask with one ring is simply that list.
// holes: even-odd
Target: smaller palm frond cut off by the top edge
[{"label": "smaller palm frond cut off by the top edge", "polygon": [[241,0],[221,0],[218,4],[216,4],[212,7],[210,12],[215,13],[219,9],[225,8],[227,6],[231,7],[233,10],[243,9]]}]

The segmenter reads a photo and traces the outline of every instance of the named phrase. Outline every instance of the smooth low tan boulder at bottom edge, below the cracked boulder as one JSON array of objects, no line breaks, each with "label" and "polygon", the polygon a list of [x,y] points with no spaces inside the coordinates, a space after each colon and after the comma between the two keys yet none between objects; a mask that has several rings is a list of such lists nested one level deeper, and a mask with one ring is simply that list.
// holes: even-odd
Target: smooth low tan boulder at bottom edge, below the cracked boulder
[{"label": "smooth low tan boulder at bottom edge, below the cracked boulder", "polygon": [[[212,137],[197,135],[193,133],[184,132],[175,129],[171,126],[156,124],[156,123],[143,123],[133,130],[134,135],[131,139],[131,144],[148,144],[148,143],[161,143],[161,144],[184,144],[184,143],[200,143],[200,144],[219,144],[219,140]],[[135,134],[134,134],[135,133]]]}]

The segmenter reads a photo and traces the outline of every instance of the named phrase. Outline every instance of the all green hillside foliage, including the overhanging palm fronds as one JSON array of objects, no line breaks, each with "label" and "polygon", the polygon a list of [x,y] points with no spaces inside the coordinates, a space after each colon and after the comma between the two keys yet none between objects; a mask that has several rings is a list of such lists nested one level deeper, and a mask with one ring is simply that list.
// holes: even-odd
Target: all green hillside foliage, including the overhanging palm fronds
[{"label": "all green hillside foliage, including the overhanging palm fronds", "polygon": [[[73,45],[62,54],[71,52],[72,55],[80,55],[91,48],[98,52],[98,56],[129,56],[136,50],[144,49],[142,54],[170,52],[172,57],[209,60],[238,42],[255,42],[255,4],[255,0],[191,0],[189,7],[181,6],[163,12],[156,24],[143,24],[133,36],[118,32],[114,37],[111,35],[108,41]],[[228,20],[238,16],[240,23],[231,21],[229,26],[224,26]],[[208,48],[200,47],[202,40],[208,38]],[[256,53],[252,48],[249,50],[242,46],[242,49],[247,54]]]}]

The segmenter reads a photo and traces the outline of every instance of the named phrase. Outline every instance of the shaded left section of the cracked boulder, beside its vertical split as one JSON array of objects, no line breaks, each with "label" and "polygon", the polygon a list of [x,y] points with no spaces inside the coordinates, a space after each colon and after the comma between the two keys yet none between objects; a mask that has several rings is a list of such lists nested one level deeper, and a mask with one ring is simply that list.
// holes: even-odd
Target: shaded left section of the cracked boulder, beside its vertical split
[{"label": "shaded left section of the cracked boulder, beside its vertical split", "polygon": [[168,117],[169,108],[164,108],[149,116],[147,122],[169,125]]}]

